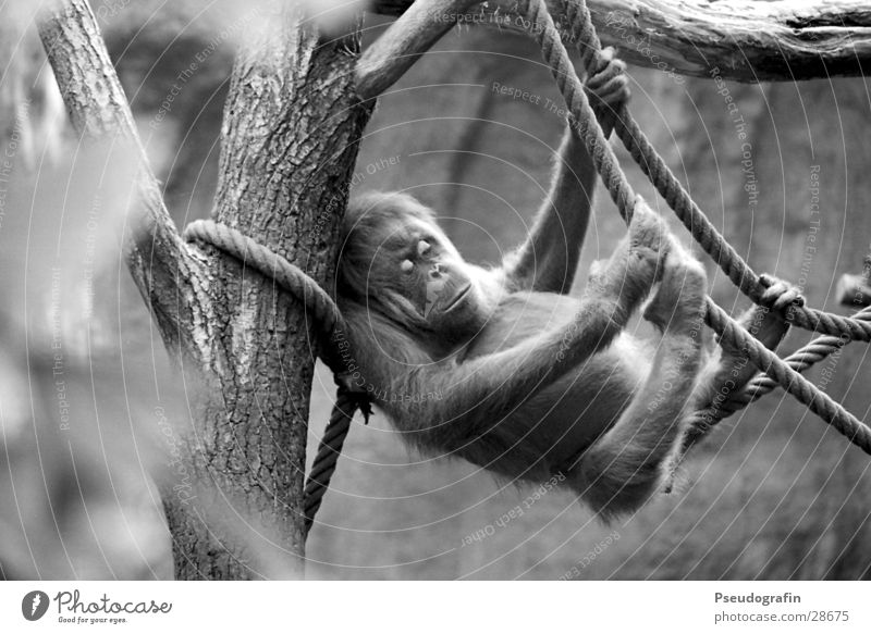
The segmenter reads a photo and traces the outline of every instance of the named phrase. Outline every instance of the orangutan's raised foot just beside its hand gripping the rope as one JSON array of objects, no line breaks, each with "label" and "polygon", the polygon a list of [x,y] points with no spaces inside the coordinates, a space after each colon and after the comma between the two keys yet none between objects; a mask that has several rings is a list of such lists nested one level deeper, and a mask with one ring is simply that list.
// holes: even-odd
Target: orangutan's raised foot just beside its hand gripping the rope
[{"label": "orangutan's raised foot just beside its hand gripping the rope", "polygon": [[698,331],[704,316],[707,290],[704,268],[676,240],[672,240],[662,283],[643,316],[664,333]]}]

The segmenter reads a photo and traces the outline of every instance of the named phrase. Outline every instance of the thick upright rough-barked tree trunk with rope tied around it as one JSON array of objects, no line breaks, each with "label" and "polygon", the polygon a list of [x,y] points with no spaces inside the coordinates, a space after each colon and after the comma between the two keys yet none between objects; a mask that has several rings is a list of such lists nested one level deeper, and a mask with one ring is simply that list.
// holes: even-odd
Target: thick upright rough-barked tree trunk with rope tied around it
[{"label": "thick upright rough-barked tree trunk with rope tied around it", "polygon": [[[353,85],[357,36],[319,46],[304,17],[282,9],[265,20],[270,30],[238,53],[224,110],[216,220],[326,286],[368,109],[357,103]],[[298,575],[316,327],[271,281],[207,252],[205,275],[196,281],[204,299],[195,338],[208,341],[211,381],[194,431],[203,445],[192,459],[195,480],[213,483],[214,492],[199,512],[196,504],[169,498],[176,573]],[[225,520],[236,512],[258,530],[234,531]],[[228,532],[216,536],[216,524]],[[252,544],[260,531],[268,538]],[[270,571],[275,555],[286,563]]]}]

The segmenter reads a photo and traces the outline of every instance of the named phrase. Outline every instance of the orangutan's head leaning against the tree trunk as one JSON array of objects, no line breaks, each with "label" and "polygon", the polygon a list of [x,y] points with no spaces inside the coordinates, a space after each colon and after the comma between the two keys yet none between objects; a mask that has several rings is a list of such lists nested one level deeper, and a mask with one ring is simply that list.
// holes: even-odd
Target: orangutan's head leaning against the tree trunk
[{"label": "orangutan's head leaning against the tree trunk", "polygon": [[486,323],[483,291],[427,208],[403,195],[363,197],[348,209],[340,296],[450,346]]}]

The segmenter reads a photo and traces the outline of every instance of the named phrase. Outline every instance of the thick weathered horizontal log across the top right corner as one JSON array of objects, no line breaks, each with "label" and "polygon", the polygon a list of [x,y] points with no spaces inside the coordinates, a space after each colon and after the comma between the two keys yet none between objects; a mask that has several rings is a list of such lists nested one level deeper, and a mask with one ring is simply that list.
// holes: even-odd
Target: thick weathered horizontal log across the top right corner
[{"label": "thick weathered horizontal log across the top right corner", "polygon": [[[571,33],[568,0],[548,0],[557,28]],[[524,32],[523,0],[490,0],[454,22]],[[625,61],[678,75],[792,82],[862,76],[871,66],[871,5],[863,0],[588,0],[603,45]],[[398,15],[410,0],[376,0]],[[584,42],[576,42],[582,46]]]}]

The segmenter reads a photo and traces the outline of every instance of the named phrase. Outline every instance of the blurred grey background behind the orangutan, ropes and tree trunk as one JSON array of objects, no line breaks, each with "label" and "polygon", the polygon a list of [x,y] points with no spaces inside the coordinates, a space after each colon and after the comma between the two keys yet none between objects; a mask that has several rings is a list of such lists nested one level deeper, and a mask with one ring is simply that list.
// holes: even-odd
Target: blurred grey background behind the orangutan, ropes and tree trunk
[{"label": "blurred grey background behind the orangutan, ropes and tree trunk", "polygon": [[[205,217],[237,32],[208,0],[93,5],[176,224]],[[27,4],[3,12],[0,579],[165,579],[170,543],[152,474],[172,468],[172,421],[186,413],[185,394],[120,253],[125,150],[78,146]],[[383,24],[367,14],[366,39]],[[180,83],[194,60],[199,70]],[[633,113],[738,252],[757,271],[798,284],[810,304],[848,313],[834,287],[842,273],[860,271],[871,240],[867,82],[723,88],[629,74]],[[540,99],[498,95],[494,82]],[[547,191],[563,128],[549,101],[561,103],[533,42],[454,29],[379,100],[355,190],[417,196],[467,259],[496,263],[523,239]],[[615,148],[636,189],[689,245]],[[598,189],[575,293],[624,232]],[[747,308],[702,259],[714,299],[733,313]],[[782,351],[808,339],[794,332]],[[863,420],[867,355],[854,344],[808,375]],[[332,396],[320,366],[309,461]],[[308,540],[307,574],[869,579],[870,467],[778,390],[723,422],[673,495],[604,526],[567,494],[503,486],[469,464],[416,456],[376,412],[368,426],[352,427]]]}]

